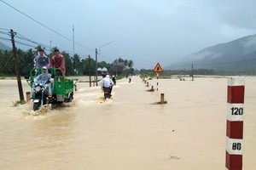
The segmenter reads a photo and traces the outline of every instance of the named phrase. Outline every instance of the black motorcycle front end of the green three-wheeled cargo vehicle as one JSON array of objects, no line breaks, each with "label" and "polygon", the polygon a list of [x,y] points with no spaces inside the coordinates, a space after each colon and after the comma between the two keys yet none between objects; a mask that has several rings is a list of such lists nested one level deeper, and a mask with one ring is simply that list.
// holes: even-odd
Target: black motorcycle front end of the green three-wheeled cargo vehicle
[{"label": "black motorcycle front end of the green three-wheeled cargo vehicle", "polygon": [[[34,82],[33,90],[33,110],[38,111],[40,107],[43,105],[46,105],[48,100],[48,91],[46,89],[46,84],[49,83],[49,81],[38,81]],[[50,88],[50,87],[49,87]]]}]

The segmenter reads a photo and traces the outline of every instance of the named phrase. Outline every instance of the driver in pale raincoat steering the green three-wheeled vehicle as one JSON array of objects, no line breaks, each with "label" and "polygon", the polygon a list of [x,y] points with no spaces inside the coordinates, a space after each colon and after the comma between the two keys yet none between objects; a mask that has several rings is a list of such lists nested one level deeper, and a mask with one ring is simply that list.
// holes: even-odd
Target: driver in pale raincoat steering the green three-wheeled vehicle
[{"label": "driver in pale raincoat steering the green three-wheeled vehicle", "polygon": [[51,74],[48,73],[48,69],[46,66],[43,68],[43,72],[38,75],[38,77],[34,78],[34,82],[42,81],[45,82],[44,87],[48,91],[49,97],[51,97],[52,92],[51,92],[51,83],[54,82],[54,79],[51,77]]}]

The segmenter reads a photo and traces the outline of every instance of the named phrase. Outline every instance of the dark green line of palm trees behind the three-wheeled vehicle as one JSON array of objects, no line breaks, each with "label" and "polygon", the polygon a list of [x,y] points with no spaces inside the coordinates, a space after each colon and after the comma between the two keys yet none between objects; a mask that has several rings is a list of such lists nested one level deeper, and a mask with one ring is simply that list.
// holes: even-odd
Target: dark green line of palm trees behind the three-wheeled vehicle
[{"label": "dark green line of palm trees behind the three-wheeled vehicle", "polygon": [[[30,71],[33,68],[33,59],[38,54],[38,49],[41,47],[38,46],[35,49],[29,49],[27,51],[23,51],[20,48],[16,49],[18,65],[20,66],[20,76],[29,75]],[[57,47],[55,47],[57,48]],[[55,48],[52,48],[49,54],[46,54],[49,59],[54,55]],[[67,76],[83,76],[83,75],[96,75],[96,60],[88,57],[83,57],[81,59],[79,54],[74,54],[73,57],[70,56],[67,52],[63,51],[61,54],[65,58],[65,66],[66,66],[66,75]],[[134,74],[135,70],[132,68],[133,61],[127,59],[115,59],[115,61],[119,61],[125,64],[125,66],[121,67],[113,67],[112,64],[109,64],[105,61],[99,62],[98,67],[106,67],[108,69],[109,74],[111,75],[120,75],[124,77],[127,74]],[[3,51],[0,50],[0,75],[1,76],[15,76],[15,63],[13,57],[13,51]]]}]

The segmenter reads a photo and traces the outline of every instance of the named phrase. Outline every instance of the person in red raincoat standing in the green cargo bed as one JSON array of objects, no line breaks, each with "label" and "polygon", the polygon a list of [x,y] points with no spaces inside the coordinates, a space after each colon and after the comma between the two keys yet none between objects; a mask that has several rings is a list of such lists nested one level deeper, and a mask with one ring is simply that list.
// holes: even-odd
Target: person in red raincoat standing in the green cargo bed
[{"label": "person in red raincoat standing in the green cargo bed", "polygon": [[[55,55],[50,59],[50,67],[61,69],[63,71],[63,77],[65,77],[65,59],[64,56],[60,53],[59,49],[55,49]],[[56,71],[55,74],[57,76],[61,75],[59,71]]]}]

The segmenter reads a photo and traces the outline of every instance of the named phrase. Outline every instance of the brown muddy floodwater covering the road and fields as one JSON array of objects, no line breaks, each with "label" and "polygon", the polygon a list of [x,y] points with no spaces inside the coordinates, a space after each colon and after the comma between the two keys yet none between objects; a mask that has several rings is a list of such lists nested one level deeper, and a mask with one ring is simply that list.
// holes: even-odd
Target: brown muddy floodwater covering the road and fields
[{"label": "brown muddy floodwater covering the road and fields", "polygon": [[[78,82],[72,103],[32,111],[16,80],[0,80],[0,169],[225,169],[227,77],[131,83],[113,98]],[[243,169],[256,169],[256,77],[245,77]],[[22,80],[23,91],[30,91]],[[154,105],[165,95],[166,105]]]}]

